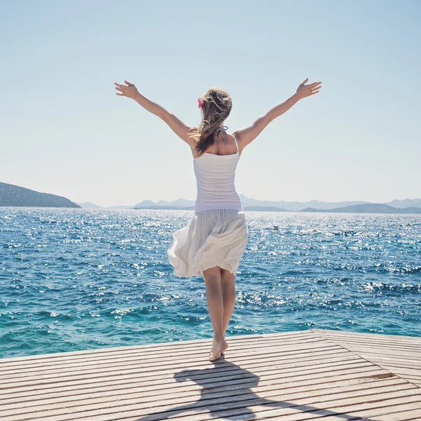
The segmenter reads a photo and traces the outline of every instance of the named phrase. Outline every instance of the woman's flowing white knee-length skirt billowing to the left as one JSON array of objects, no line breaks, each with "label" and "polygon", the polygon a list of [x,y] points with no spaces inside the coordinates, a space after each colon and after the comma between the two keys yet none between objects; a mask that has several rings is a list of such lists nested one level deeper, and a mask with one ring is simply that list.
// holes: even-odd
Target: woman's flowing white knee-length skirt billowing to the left
[{"label": "woman's flowing white knee-length skirt billowing to the left", "polygon": [[248,240],[243,210],[209,209],[196,213],[187,225],[173,232],[167,250],[175,276],[198,276],[219,266],[236,274]]}]

